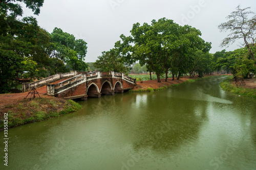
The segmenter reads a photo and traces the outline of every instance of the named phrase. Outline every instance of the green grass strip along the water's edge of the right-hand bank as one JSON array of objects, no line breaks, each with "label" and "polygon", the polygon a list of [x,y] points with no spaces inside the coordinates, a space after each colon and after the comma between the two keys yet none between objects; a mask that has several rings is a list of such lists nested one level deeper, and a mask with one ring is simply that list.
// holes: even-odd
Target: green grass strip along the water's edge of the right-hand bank
[{"label": "green grass strip along the water's edge of the right-hand bank", "polygon": [[224,90],[234,94],[246,96],[248,98],[256,98],[256,89],[243,88],[241,86],[237,87],[236,85],[232,84],[232,82],[232,78],[224,80],[223,82],[221,82],[221,87]]}]

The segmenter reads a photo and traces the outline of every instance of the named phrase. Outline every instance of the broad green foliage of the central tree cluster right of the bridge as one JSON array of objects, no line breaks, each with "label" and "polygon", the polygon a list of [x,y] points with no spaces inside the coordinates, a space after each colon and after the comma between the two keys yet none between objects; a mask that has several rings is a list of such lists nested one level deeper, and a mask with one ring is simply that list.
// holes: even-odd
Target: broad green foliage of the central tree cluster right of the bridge
[{"label": "broad green foliage of the central tree cluster right of the bridge", "polygon": [[[173,20],[161,18],[158,21],[152,20],[151,25],[135,23],[131,36],[121,35],[122,42],[116,42],[115,49],[121,61],[127,65],[139,61],[140,65],[135,64],[133,72],[155,72],[158,82],[165,74],[167,81],[169,70],[173,77],[178,74],[178,79],[189,71],[189,65],[193,63],[190,54],[197,50],[208,53],[211,43],[205,42],[200,36],[201,32],[195,28],[182,27]],[[140,69],[141,66],[143,69]]]}]

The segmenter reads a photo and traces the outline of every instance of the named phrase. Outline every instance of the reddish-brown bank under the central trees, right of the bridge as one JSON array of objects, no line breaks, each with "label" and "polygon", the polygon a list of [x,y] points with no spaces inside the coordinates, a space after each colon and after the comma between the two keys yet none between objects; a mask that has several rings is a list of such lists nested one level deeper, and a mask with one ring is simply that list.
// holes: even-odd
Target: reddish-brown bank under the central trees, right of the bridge
[{"label": "reddish-brown bank under the central trees, right of the bridge", "polygon": [[163,90],[168,87],[179,86],[184,83],[195,82],[196,80],[202,80],[206,78],[211,78],[215,76],[227,76],[227,75],[211,75],[204,76],[203,78],[199,78],[195,76],[194,78],[189,78],[189,76],[185,76],[180,78],[180,80],[173,80],[173,78],[168,78],[167,82],[165,79],[161,79],[161,82],[158,83],[157,80],[147,80],[147,81],[137,81],[137,86],[135,86],[130,92],[144,92],[144,91],[155,91],[155,90]]}]

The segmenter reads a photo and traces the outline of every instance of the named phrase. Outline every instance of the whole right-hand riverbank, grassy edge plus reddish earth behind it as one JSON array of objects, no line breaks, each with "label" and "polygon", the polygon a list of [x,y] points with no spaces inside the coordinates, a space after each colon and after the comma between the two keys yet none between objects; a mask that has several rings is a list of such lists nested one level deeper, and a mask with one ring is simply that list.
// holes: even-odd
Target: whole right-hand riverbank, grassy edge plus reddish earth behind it
[{"label": "whole right-hand riverbank, grassy edge plus reddish earth behind it", "polygon": [[246,85],[238,86],[234,79],[230,78],[221,82],[222,89],[231,92],[233,94],[238,94],[246,96],[248,98],[256,99],[256,79],[244,79]]}]

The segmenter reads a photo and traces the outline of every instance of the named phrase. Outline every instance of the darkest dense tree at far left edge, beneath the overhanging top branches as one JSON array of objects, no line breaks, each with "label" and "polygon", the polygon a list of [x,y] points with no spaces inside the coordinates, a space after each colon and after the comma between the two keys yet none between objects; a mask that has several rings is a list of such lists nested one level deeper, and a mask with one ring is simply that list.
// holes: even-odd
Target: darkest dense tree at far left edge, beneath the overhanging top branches
[{"label": "darkest dense tree at far left edge, beneath the overhanging top branches", "polygon": [[[10,89],[12,82],[14,80],[17,81],[23,71],[27,71],[23,64],[23,61],[27,60],[27,58],[30,61],[37,60],[36,62],[39,60],[46,61],[47,59],[44,51],[49,42],[49,36],[47,37],[45,31],[40,29],[36,22],[31,23],[31,20],[27,20],[27,18],[20,22],[24,23],[22,25],[23,33],[16,32],[15,34],[0,35],[1,92],[6,92]],[[9,30],[12,32],[11,28]],[[42,36],[43,34],[46,37]]]}]

